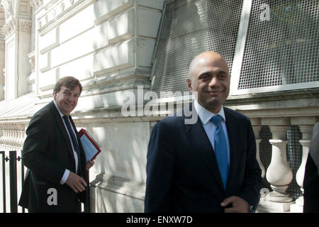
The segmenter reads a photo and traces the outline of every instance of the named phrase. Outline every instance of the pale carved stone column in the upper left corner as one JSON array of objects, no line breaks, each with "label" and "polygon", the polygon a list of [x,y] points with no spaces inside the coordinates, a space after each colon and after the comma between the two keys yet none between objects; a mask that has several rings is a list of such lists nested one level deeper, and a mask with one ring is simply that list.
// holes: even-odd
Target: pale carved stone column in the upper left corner
[{"label": "pale carved stone column in the upper left corner", "polygon": [[[30,4],[28,1],[1,1],[6,23],[1,28],[5,38],[5,95],[6,100],[16,99],[28,92],[26,77],[30,74]],[[13,10],[14,9],[14,10]]]}]

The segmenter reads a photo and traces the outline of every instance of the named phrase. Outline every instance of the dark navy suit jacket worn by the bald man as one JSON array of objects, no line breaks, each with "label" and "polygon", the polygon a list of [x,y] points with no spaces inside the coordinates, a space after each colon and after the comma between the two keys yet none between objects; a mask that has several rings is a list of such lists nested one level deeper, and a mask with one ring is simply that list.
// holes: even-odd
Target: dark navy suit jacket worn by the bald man
[{"label": "dark navy suit jacket worn by the bald man", "polygon": [[[189,109],[196,114],[192,105]],[[152,129],[145,212],[223,212],[220,202],[233,195],[257,207],[262,177],[250,120],[228,108],[224,111],[230,141],[226,190],[201,120],[185,124],[187,114],[183,111],[181,116],[164,118]]]}]

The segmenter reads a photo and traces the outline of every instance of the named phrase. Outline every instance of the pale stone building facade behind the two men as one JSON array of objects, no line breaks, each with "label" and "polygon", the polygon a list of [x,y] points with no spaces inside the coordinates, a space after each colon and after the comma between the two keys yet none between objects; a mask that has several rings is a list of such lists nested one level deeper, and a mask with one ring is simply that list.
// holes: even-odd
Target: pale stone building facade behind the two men
[{"label": "pale stone building facade behind the two men", "polygon": [[[226,58],[232,71],[232,90],[226,106],[250,117],[260,148],[263,192],[279,194],[277,197],[275,193],[272,197],[262,194],[259,211],[301,211],[302,206],[295,201],[302,195],[297,185],[302,181],[302,173],[297,177],[296,170],[300,168],[302,172],[301,163],[308,152],[312,128],[319,119],[319,79],[240,87],[245,81],[253,84],[250,82],[253,79],[242,77],[240,72],[246,69],[244,63],[250,57],[245,50],[253,45],[251,40],[256,42],[250,39],[254,11],[259,12],[260,20],[270,21],[277,6],[273,1],[238,2],[233,6],[228,1],[210,5],[206,0],[1,0],[0,150],[21,150],[30,118],[52,100],[57,79],[77,77],[84,90],[72,117],[77,128],[86,128],[102,150],[90,170],[91,211],[142,212],[150,132],[157,121],[178,109],[179,100],[176,96],[159,95],[161,99],[154,101],[152,107],[164,108],[159,108],[157,114],[146,114],[145,96],[147,92],[153,95],[167,92],[169,76],[179,72],[183,75],[177,80],[182,83],[187,76],[189,57],[202,49],[214,48],[209,40],[214,32],[206,33],[213,29],[209,20],[215,11],[226,7],[221,10],[223,15],[229,14],[228,18],[235,20],[230,15],[234,9],[238,18],[237,27],[230,28],[232,32],[223,32],[227,37],[234,36],[233,44],[229,44],[233,49],[220,49],[225,45],[223,39],[215,47],[229,56]],[[286,7],[289,6],[291,3],[287,1]],[[184,11],[196,17],[185,16],[188,14],[181,13]],[[208,13],[202,15],[202,11]],[[213,13],[209,14],[210,11]],[[205,16],[208,19],[203,22]],[[196,20],[198,26],[189,28]],[[318,24],[318,15],[313,20]],[[218,21],[216,27],[222,22],[227,25],[227,20]],[[202,37],[208,40],[201,43]],[[182,42],[177,45],[174,40]],[[312,42],[301,38],[295,41]],[[199,48],[194,48],[196,44]],[[179,49],[175,51],[174,47]],[[259,46],[262,52],[260,48],[262,45]],[[315,56],[318,57],[318,45]],[[309,64],[317,68],[310,74],[318,74],[318,60]],[[173,71],[169,72],[170,69]],[[179,87],[174,78],[172,81],[175,88],[166,94],[185,91],[186,84]],[[189,101],[191,98],[184,96],[184,102]],[[124,114],[127,106],[137,111]],[[294,142],[289,133],[298,134],[294,135]],[[298,144],[292,144],[295,142]],[[299,192],[296,196],[287,193],[292,182]]]}]

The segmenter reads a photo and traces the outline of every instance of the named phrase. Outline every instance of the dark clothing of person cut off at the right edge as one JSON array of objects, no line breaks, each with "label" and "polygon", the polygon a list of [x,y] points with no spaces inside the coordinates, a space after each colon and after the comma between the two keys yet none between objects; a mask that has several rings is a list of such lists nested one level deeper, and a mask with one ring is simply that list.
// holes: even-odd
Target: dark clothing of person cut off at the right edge
[{"label": "dark clothing of person cut off at the right edge", "polygon": [[313,127],[303,189],[303,212],[319,212],[319,122]]}]

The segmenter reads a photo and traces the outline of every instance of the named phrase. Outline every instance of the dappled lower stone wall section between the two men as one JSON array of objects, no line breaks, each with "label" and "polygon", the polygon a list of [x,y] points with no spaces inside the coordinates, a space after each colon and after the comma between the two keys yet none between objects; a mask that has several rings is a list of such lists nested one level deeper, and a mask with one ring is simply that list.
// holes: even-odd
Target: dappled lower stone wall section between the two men
[{"label": "dappled lower stone wall section between the two men", "polygon": [[98,141],[101,153],[90,170],[92,209],[142,211],[146,180],[148,123],[77,123]]}]

